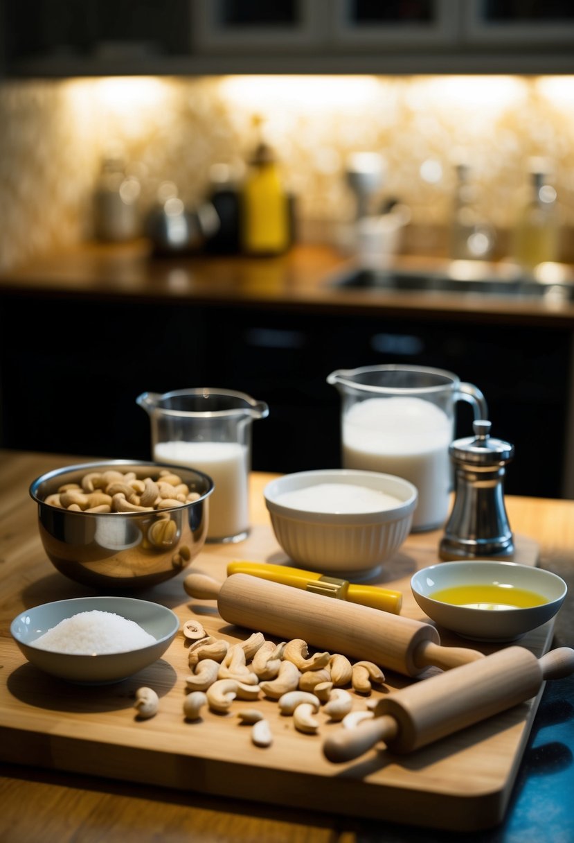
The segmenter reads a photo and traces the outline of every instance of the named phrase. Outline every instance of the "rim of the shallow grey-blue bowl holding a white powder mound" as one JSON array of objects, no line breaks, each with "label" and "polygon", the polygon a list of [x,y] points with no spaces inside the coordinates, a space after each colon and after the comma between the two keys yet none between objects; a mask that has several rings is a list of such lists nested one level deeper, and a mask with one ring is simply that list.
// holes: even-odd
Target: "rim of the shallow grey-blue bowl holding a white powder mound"
[{"label": "rim of the shallow grey-blue bowl holding a white powder mound", "polygon": [[[118,604],[145,604],[149,608],[153,609],[157,612],[158,615],[163,615],[166,620],[172,620],[172,627],[170,631],[162,635],[161,638],[157,638],[155,642],[150,644],[146,644],[144,647],[136,647],[136,649],[130,650],[119,650],[117,652],[100,652],[95,655],[88,655],[82,654],[77,652],[59,652],[57,650],[47,650],[45,647],[36,647],[35,640],[34,641],[24,641],[22,636],[16,631],[16,626],[19,622],[24,620],[26,615],[30,615],[34,613],[36,609],[49,609],[50,606],[56,605],[65,605],[65,604],[80,604],[88,606],[89,604],[94,604],[97,602],[103,602],[104,604],[107,601],[111,601],[112,603]],[[81,611],[89,611],[88,608],[81,609],[78,608],[75,611],[72,611],[69,615],[63,615],[61,620],[65,620],[66,618],[71,618],[73,615],[77,615]],[[99,611],[113,611],[113,609],[98,609]],[[115,614],[120,614],[122,617],[125,617],[120,611],[116,611]],[[133,619],[129,619],[133,620]],[[60,621],[57,621],[59,623]],[[137,622],[137,621],[136,621]],[[141,626],[141,625],[140,625]],[[135,597],[124,597],[121,595],[90,595],[87,597],[72,597],[63,600],[50,600],[48,603],[40,603],[35,606],[31,606],[28,609],[23,609],[16,615],[10,623],[10,634],[13,636],[15,642],[17,642],[22,647],[29,647],[30,650],[37,652],[37,653],[48,653],[52,657],[57,657],[63,659],[65,662],[72,662],[73,660],[77,659],[96,659],[98,662],[102,662],[104,659],[111,659],[111,660],[118,660],[120,658],[129,658],[131,654],[134,653],[142,653],[146,652],[146,650],[153,649],[155,647],[161,647],[163,644],[169,644],[173,640],[173,638],[178,634],[179,631],[179,618],[178,615],[173,612],[172,609],[169,609],[167,606],[164,606],[161,603],[155,603],[153,600],[142,600]],[[37,637],[40,637],[43,633],[39,633]]]}]

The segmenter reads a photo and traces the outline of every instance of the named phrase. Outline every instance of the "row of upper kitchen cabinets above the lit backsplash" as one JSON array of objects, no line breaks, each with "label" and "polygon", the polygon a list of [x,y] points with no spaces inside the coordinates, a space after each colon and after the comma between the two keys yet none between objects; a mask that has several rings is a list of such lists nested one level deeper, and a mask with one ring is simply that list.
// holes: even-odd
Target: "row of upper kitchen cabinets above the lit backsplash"
[{"label": "row of upper kitchen cabinets above the lit backsplash", "polygon": [[11,76],[574,72],[566,0],[0,0]]}]

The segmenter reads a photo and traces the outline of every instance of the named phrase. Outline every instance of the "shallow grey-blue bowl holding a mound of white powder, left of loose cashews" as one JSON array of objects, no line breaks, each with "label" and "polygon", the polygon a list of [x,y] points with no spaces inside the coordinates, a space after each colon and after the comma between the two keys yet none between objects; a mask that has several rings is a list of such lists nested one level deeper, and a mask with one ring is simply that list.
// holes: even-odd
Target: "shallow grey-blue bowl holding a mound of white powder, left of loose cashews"
[{"label": "shallow grey-blue bowl holding a mound of white powder, left of loose cashews", "polygon": [[[79,612],[113,612],[134,620],[156,638],[155,644],[125,652],[80,656],[69,652],[52,652],[35,646],[35,639]],[[171,609],[147,600],[130,597],[82,597],[45,603],[25,609],[10,626],[14,641],[28,661],[46,674],[58,676],[78,685],[107,685],[120,682],[157,661],[177,635],[178,616]]]}]

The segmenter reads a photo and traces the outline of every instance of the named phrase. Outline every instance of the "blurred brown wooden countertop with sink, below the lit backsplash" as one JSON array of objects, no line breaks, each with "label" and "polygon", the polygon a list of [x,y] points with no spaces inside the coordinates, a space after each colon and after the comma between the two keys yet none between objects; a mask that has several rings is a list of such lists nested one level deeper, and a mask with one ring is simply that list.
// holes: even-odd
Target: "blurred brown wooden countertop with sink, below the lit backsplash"
[{"label": "blurred brown wooden countertop with sink, below the lit backsplash", "polygon": [[[432,258],[401,258],[407,269],[433,269]],[[443,261],[439,261],[443,263]],[[98,301],[280,307],[306,312],[377,312],[485,324],[574,325],[574,304],[466,293],[333,289],[329,281],[353,266],[326,246],[298,245],[273,259],[191,256],[151,258],[145,240],[117,246],[82,244],[46,255],[0,276],[0,295],[42,295]]]}]

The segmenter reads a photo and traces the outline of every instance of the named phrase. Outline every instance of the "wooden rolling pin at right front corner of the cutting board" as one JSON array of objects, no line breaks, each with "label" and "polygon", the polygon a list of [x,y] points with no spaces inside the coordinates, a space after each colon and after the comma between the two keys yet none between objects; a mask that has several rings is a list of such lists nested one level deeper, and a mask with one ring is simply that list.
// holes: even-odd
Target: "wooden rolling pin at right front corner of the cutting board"
[{"label": "wooden rolling pin at right front corner of the cutting board", "polygon": [[394,691],[377,703],[373,720],[330,735],[323,753],[330,761],[349,761],[379,741],[385,741],[391,752],[412,752],[529,700],[545,679],[572,673],[570,647],[551,650],[541,658],[524,647],[508,647],[480,662]]}]

